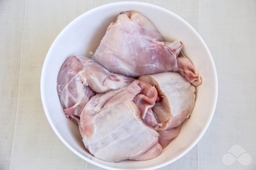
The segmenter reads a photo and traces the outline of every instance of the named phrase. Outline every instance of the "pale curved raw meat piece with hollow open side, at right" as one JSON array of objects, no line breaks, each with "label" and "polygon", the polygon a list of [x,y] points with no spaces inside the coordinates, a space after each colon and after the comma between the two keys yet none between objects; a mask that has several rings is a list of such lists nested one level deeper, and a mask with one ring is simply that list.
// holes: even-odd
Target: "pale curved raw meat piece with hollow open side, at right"
[{"label": "pale curved raw meat piece with hollow open side, at right", "polygon": [[158,130],[179,126],[190,116],[195,103],[196,88],[179,73],[145,75],[139,80],[157,88],[159,99],[152,110],[158,123],[163,124]]}]

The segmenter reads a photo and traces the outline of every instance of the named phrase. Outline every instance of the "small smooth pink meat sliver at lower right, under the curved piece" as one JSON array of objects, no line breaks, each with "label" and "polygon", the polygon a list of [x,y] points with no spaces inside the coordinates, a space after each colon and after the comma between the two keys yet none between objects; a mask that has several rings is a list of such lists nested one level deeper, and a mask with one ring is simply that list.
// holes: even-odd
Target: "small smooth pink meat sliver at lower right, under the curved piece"
[{"label": "small smooth pink meat sliver at lower right, under the curved piece", "polygon": [[169,143],[171,142],[171,140],[173,138],[175,138],[175,137],[177,137],[179,135],[179,131],[181,129],[181,126],[182,126],[182,124],[177,126],[177,127],[175,127],[175,128],[158,131],[158,133],[159,133],[158,142],[162,145],[163,149],[167,145],[169,145]]}]

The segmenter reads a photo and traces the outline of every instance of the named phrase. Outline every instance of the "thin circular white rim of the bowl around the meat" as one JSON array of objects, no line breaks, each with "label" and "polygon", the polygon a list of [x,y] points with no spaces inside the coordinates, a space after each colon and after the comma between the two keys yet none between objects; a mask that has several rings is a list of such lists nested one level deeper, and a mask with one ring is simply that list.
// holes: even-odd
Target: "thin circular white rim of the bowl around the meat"
[{"label": "thin circular white rim of the bowl around the meat", "polygon": [[[104,4],[104,5],[101,5],[101,6],[98,6],[98,7],[95,7],[95,8],[92,8],[90,9],[89,11],[81,14],[80,16],[78,16],[77,18],[75,18],[73,21],[71,21],[67,26],[65,26],[64,29],[62,29],[62,31],[58,34],[58,36],[55,38],[55,40],[53,41],[53,43],[51,44],[48,52],[47,52],[47,55],[46,55],[46,58],[43,62],[43,67],[42,67],[42,72],[41,72],[41,79],[40,79],[40,93],[41,93],[41,100],[42,100],[42,105],[43,105],[43,110],[45,112],[45,115],[47,117],[47,120],[48,122],[50,123],[51,125],[51,128],[53,129],[53,131],[55,132],[55,134],[59,137],[60,141],[62,141],[64,143],[64,145],[66,145],[66,147],[68,147],[68,149],[70,149],[73,153],[75,153],[78,157],[82,158],[83,160],[87,161],[87,162],[90,162],[91,164],[95,165],[95,166],[98,166],[98,167],[101,167],[101,168],[105,168],[105,169],[108,169],[108,170],[120,170],[119,168],[114,168],[114,167],[111,167],[111,166],[106,166],[106,165],[102,165],[101,163],[98,163],[98,162],[95,162],[94,160],[90,159],[90,158],[87,158],[85,157],[83,154],[79,153],[76,149],[73,148],[72,145],[69,145],[67,141],[64,140],[64,138],[60,135],[60,133],[58,132],[58,130],[55,128],[55,125],[53,124],[53,121],[51,120],[51,117],[50,117],[50,114],[49,114],[49,110],[47,108],[47,103],[46,103],[46,97],[45,97],[45,87],[44,87],[44,84],[46,83],[46,79],[45,79],[45,70],[47,69],[47,63],[49,61],[49,58],[50,58],[50,54],[51,54],[51,51],[53,49],[53,46],[55,46],[55,43],[58,39],[60,39],[60,37],[64,34],[64,32],[69,28],[71,27],[72,25],[74,25],[80,18],[84,17],[85,15],[88,15],[92,12],[95,12],[95,11],[100,11],[102,10],[103,8],[108,8],[109,6],[115,6],[115,5],[125,5],[125,4],[132,4],[132,5],[143,5],[143,6],[148,6],[148,7],[151,7],[151,8],[158,8],[159,10],[163,10],[167,13],[169,13],[170,15],[178,18],[181,22],[183,22],[183,24],[185,24],[186,26],[188,26],[192,31],[193,33],[196,34],[197,37],[199,37],[200,41],[202,42],[204,48],[206,49],[208,55],[209,55],[209,59],[210,59],[210,62],[211,62],[211,65],[213,66],[213,71],[214,71],[214,77],[213,79],[215,79],[215,84],[214,84],[214,87],[215,87],[215,96],[214,96],[214,99],[213,99],[213,107],[211,109],[211,114],[209,115],[208,117],[208,120],[206,122],[206,125],[205,127],[201,130],[201,133],[196,137],[196,140],[193,141],[189,147],[187,147],[185,150],[183,150],[183,152],[179,153],[175,158],[169,160],[169,161],[166,161],[164,163],[161,163],[161,164],[158,164],[156,166],[152,166],[150,168],[143,168],[143,169],[140,169],[140,170],[152,170],[152,169],[158,169],[158,168],[161,168],[163,166],[167,166],[169,164],[171,164],[172,162],[175,162],[177,161],[179,158],[183,157],[186,153],[188,153],[197,143],[198,141],[201,139],[201,137],[205,134],[206,130],[208,129],[209,127],[209,124],[213,118],[213,115],[214,115],[214,112],[215,112],[215,108],[216,108],[216,104],[217,104],[217,99],[218,99],[218,76],[217,76],[217,71],[216,71],[216,67],[215,67],[215,64],[214,64],[214,61],[213,61],[213,57],[207,47],[207,45],[205,44],[205,41],[203,40],[203,38],[199,35],[199,33],[196,32],[196,30],[190,25],[188,24],[187,21],[185,21],[183,18],[179,17],[177,14],[175,14],[174,12],[171,12],[165,8],[162,8],[162,7],[159,7],[157,5],[154,5],[154,4],[149,4],[149,3],[144,3],[144,2],[131,2],[131,1],[124,1],[124,2],[115,2],[115,3],[109,3],[109,4]],[[131,169],[123,169],[123,170],[131,170]],[[135,170],[135,169],[134,169]]]}]

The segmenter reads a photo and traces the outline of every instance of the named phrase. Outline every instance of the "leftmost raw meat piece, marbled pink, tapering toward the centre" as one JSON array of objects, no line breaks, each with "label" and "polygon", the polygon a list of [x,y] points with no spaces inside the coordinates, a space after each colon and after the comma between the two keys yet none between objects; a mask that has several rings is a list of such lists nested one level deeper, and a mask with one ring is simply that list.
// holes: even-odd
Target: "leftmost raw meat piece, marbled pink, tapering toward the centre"
[{"label": "leftmost raw meat piece, marbled pink, tapering toward the centre", "polygon": [[66,117],[79,121],[94,92],[103,93],[132,83],[134,78],[109,72],[90,58],[70,56],[60,68],[57,90]]}]

